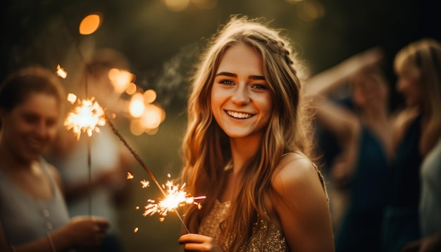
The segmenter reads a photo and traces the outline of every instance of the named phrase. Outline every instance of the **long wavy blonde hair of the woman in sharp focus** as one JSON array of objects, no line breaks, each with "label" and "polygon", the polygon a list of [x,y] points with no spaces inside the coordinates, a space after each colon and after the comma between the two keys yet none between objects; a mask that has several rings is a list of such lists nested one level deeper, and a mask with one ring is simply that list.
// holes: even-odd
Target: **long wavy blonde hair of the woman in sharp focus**
[{"label": "long wavy blonde hair of the woman in sharp focus", "polygon": [[[213,119],[211,87],[223,53],[243,42],[263,58],[263,74],[273,99],[273,114],[264,133],[261,149],[245,170],[240,194],[232,202],[230,218],[222,225],[224,239],[231,239],[231,251],[246,246],[253,223],[263,212],[263,196],[271,187],[271,177],[283,153],[300,151],[311,156],[311,125],[302,106],[302,64],[291,51],[290,42],[262,20],[232,16],[209,41],[192,82],[188,101],[188,125],[182,144],[184,165],[182,179],[187,191],[205,195],[203,208],[189,208],[185,221],[197,232],[201,220],[209,214],[221,194],[225,166],[231,160],[228,136]],[[259,222],[257,222],[259,223]]]}]

